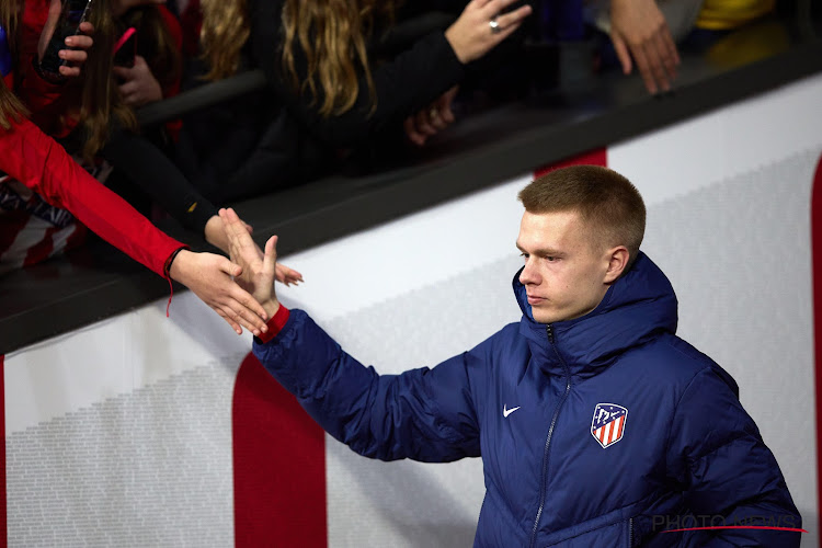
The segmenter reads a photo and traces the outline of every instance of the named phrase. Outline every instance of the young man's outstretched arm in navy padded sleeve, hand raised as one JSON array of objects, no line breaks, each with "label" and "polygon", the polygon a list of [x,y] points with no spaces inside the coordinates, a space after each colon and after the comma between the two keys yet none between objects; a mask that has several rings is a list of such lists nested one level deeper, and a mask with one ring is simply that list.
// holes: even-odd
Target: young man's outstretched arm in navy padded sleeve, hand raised
[{"label": "young man's outstretched arm in navy padded sleeve, hand raised", "polygon": [[260,259],[237,215],[224,209],[220,216],[231,258],[243,269],[238,283],[272,316],[271,331],[254,342],[254,354],[329,434],[383,460],[448,461],[479,455],[469,376],[486,367],[489,342],[431,369],[378,375],[343,352],[304,311],[278,302],[272,290],[276,237],[269,239]]}]

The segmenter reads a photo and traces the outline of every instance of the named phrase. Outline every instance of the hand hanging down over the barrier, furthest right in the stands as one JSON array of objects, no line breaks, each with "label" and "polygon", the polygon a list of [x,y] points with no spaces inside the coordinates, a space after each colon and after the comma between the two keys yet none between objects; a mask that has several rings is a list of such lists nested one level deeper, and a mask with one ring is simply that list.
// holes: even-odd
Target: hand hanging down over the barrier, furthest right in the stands
[{"label": "hand hanging down over the barrier, furthest right in the stands", "polygon": [[650,93],[671,90],[680,54],[654,0],[612,0],[610,39],[623,72],[630,73],[632,57]]}]

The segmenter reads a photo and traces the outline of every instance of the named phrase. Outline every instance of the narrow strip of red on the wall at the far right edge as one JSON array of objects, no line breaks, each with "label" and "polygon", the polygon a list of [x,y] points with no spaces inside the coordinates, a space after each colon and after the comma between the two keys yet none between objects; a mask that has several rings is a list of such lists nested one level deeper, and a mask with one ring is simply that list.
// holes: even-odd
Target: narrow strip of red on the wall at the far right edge
[{"label": "narrow strip of red on the wall at the far right edge", "polygon": [[817,163],[811,190],[811,254],[813,256],[813,339],[817,388],[817,496],[818,517],[822,515],[822,156]]}]

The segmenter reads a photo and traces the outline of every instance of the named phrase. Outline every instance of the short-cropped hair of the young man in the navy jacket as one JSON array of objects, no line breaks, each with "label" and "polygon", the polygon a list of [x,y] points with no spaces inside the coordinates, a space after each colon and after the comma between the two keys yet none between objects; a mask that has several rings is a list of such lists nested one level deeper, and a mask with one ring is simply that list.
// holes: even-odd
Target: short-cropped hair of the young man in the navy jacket
[{"label": "short-cropped hair of the young man in the navy jacket", "polygon": [[532,214],[576,212],[606,247],[625,246],[629,264],[646,231],[646,205],[637,187],[616,171],[600,165],[571,165],[550,171],[520,191]]}]

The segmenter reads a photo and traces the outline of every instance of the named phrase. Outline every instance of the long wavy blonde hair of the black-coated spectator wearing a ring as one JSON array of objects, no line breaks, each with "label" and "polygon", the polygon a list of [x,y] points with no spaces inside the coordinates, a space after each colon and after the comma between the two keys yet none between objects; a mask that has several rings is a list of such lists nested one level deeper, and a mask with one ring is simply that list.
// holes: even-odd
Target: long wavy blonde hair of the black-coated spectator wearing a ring
[{"label": "long wavy blonde hair of the black-coated spectator wearing a ring", "polygon": [[[249,38],[247,0],[203,0],[202,41],[209,62],[208,80],[233,75]],[[366,39],[377,20],[393,22],[390,0],[286,0],[283,5],[281,65],[297,93],[308,92],[324,117],[343,114],[356,103],[358,75],[365,76],[372,112],[376,107]],[[294,50],[299,45],[307,70],[300,75]],[[276,55],[272,52],[272,55]],[[300,78],[304,78],[300,83]]]}]

